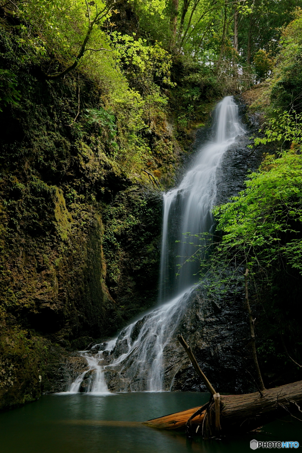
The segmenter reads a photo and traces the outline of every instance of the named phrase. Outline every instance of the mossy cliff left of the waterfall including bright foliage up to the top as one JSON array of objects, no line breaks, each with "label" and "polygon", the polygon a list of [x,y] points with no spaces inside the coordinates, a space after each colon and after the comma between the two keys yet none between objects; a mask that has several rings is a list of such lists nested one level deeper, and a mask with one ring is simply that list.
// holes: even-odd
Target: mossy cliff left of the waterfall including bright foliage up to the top
[{"label": "mossy cliff left of the waterfall including bright foliage up to the top", "polygon": [[97,14],[83,5],[0,7],[0,409],[58,390],[67,351],[156,303],[158,184],[217,95],[127,1],[66,72]]}]

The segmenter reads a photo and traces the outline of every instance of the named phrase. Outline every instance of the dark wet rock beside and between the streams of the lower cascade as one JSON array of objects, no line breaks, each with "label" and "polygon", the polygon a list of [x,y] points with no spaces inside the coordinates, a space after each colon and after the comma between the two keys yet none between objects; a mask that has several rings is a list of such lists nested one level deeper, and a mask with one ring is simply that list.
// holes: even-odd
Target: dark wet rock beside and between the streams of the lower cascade
[{"label": "dark wet rock beside and between the streams of the lower cascade", "polygon": [[[179,333],[191,345],[216,391],[240,393],[254,389],[254,383],[250,383],[250,376],[247,378],[247,371],[244,371],[244,366],[249,367],[246,361],[250,360],[249,325],[240,296],[234,298],[230,290],[220,299],[209,297],[206,289],[201,287],[192,292],[180,323],[163,352],[164,390],[207,391],[177,340]],[[127,352],[122,335],[104,365]],[[128,363],[131,364],[131,357]],[[148,371],[148,363],[145,367]],[[107,366],[105,377],[110,391],[130,389],[126,373],[127,367],[123,363]],[[134,386],[133,382],[132,388]]]}]

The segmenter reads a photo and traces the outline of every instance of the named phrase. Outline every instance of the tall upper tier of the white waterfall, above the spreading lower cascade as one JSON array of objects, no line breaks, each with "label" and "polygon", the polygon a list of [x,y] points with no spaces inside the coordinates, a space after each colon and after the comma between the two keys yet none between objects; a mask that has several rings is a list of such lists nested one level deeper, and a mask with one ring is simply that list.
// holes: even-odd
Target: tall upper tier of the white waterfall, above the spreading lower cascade
[{"label": "tall upper tier of the white waterfall, above the spreading lower cascade", "polygon": [[180,185],[163,195],[160,302],[199,280],[200,263],[194,260],[183,264],[200,243],[194,235],[213,231],[211,208],[216,199],[216,169],[226,149],[244,132],[238,106],[232,96],[225,97],[214,112],[212,140],[201,147]]}]

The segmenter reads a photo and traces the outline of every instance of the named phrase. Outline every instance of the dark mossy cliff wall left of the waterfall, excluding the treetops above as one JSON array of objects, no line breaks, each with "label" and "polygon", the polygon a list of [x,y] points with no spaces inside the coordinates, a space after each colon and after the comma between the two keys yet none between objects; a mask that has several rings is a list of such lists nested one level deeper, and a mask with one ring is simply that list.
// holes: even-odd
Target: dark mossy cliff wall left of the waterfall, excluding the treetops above
[{"label": "dark mossy cliff wall left of the waterfall, excluding the treetops above", "polygon": [[166,103],[150,113],[114,68],[109,80],[85,68],[46,80],[32,49],[19,46],[19,22],[3,11],[1,20],[5,409],[56,389],[67,350],[156,303],[161,194],[142,170],[173,184],[190,139]]}]

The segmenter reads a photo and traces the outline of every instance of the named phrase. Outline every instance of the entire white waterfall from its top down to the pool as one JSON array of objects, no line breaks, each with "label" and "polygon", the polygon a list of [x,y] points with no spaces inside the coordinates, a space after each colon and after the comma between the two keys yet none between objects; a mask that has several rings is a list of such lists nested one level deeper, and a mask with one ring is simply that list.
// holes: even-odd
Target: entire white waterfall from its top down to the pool
[{"label": "entire white waterfall from its top down to the pool", "polygon": [[[120,391],[169,390],[164,383],[164,352],[186,310],[186,301],[198,281],[199,263],[189,260],[196,250],[198,235],[211,233],[211,208],[216,198],[216,169],[221,157],[238,135],[245,131],[240,125],[238,107],[233,97],[226,96],[216,106],[212,140],[203,145],[180,185],[163,195],[163,231],[160,263],[159,301],[162,304],[138,322],[130,324],[113,340],[107,369],[115,370]],[[190,236],[184,235],[190,233]],[[186,239],[187,238],[187,239]],[[178,270],[178,272],[177,272]],[[175,277],[178,273],[177,279]],[[102,386],[107,389],[101,353],[93,359],[86,353],[90,369],[96,370],[87,392]],[[93,362],[93,363],[92,363]],[[89,370],[88,370],[89,371]],[[78,391],[85,373],[72,383],[70,391]],[[97,373],[99,373],[97,375]],[[100,384],[101,383],[101,384]],[[100,387],[101,388],[101,387]]]}]

